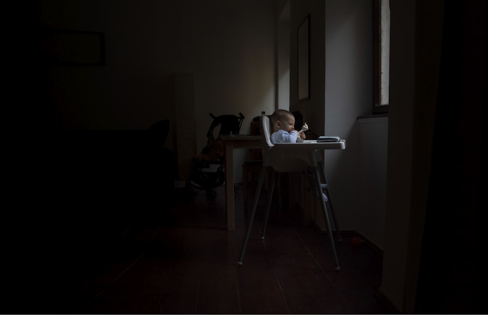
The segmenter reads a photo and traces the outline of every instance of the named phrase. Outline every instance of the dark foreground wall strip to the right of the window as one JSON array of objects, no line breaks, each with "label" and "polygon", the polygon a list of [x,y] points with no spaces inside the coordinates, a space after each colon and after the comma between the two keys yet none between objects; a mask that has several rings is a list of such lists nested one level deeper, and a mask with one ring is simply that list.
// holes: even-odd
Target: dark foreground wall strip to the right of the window
[{"label": "dark foreground wall strip to the right of the window", "polygon": [[412,314],[427,196],[432,193],[429,177],[435,164],[431,150],[436,103],[439,95],[452,93],[437,86],[445,31],[444,1],[391,0],[390,13],[388,162],[380,291],[400,312]]}]

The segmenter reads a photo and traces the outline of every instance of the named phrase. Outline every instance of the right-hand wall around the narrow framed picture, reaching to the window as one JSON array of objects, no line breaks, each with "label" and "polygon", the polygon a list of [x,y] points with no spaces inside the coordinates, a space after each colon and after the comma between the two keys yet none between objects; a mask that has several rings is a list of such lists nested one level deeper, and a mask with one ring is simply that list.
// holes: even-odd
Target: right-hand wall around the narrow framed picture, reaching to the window
[{"label": "right-hand wall around the narrow framed picture, reaching to the window", "polygon": [[[298,102],[296,30],[310,13],[310,99]],[[346,139],[346,150],[325,152],[341,230],[359,226],[359,128],[371,114],[371,4],[361,0],[292,1],[290,108],[300,110],[310,130]]]}]

